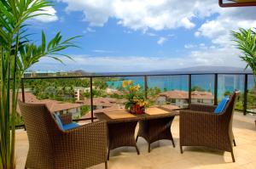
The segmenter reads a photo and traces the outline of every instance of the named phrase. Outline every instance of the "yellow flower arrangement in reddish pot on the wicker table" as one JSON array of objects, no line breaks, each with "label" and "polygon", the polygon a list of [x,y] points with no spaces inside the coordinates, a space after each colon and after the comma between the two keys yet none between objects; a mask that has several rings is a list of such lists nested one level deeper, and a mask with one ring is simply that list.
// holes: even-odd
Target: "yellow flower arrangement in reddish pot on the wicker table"
[{"label": "yellow flower arrangement in reddish pot on the wicker table", "polygon": [[145,99],[139,84],[135,85],[132,81],[124,81],[123,87],[127,92],[125,98],[125,109],[130,110],[131,114],[144,114],[148,101]]}]

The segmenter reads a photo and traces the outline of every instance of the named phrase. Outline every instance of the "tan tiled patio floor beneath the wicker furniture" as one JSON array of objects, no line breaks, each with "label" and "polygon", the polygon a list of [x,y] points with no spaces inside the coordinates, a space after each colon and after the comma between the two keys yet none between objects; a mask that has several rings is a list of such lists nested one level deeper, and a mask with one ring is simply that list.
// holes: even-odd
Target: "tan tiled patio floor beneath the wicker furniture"
[{"label": "tan tiled patio floor beneath the wicker furniture", "polygon": [[[172,134],[176,148],[171,141],[159,141],[152,144],[148,153],[148,144],[143,138],[138,139],[138,149],[141,155],[137,155],[134,148],[114,149],[108,161],[109,169],[256,169],[256,117],[243,116],[236,113],[234,116],[233,131],[237,146],[234,147],[236,163],[232,162],[228,152],[202,147],[184,147],[183,155],[179,151],[178,117],[172,123]],[[24,130],[17,130],[17,168],[24,169],[28,141]],[[90,169],[104,168],[104,164],[90,167]]]}]

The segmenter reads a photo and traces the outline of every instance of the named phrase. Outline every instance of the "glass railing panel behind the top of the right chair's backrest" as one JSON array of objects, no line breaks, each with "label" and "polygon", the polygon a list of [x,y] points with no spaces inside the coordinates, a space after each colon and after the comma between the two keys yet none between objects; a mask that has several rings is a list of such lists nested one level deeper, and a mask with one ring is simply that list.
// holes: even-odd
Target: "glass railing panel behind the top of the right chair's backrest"
[{"label": "glass railing panel behind the top of the right chair's backrest", "polygon": [[236,102],[236,110],[243,110],[244,75],[218,75],[218,102],[235,90],[241,92]]}]

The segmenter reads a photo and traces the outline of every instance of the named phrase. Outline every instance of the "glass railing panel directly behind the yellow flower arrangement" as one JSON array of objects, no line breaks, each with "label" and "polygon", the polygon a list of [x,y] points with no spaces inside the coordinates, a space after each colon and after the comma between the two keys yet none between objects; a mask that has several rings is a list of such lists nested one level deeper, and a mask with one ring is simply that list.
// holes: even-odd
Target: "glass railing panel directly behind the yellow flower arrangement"
[{"label": "glass railing panel directly behind the yellow flower arrangement", "polygon": [[132,82],[129,87],[138,85],[137,93],[145,96],[143,76],[94,77],[92,90],[94,112],[125,110],[128,94],[127,82]]}]

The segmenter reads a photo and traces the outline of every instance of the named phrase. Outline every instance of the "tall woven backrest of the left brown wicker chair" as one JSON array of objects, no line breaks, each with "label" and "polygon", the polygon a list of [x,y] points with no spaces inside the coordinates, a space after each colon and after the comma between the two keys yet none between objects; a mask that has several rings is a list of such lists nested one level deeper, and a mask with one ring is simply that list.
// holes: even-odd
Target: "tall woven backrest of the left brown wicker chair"
[{"label": "tall woven backrest of the left brown wicker chair", "polygon": [[[58,132],[53,116],[45,104],[26,104],[18,100],[29,141],[30,160],[37,161],[37,166],[49,168],[54,164],[54,133]],[[42,163],[42,164],[41,164]]]}]

